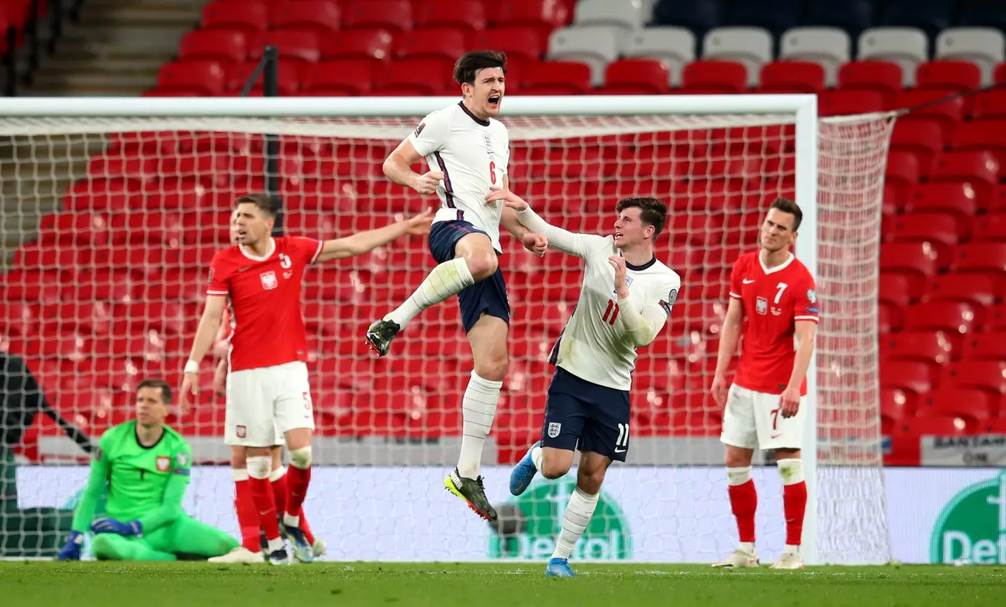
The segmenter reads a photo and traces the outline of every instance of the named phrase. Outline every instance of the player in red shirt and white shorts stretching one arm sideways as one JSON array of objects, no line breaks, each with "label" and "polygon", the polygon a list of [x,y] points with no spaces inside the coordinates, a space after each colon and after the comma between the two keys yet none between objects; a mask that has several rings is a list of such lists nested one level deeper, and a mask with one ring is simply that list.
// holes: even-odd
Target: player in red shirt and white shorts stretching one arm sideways
[{"label": "player in red shirt and white shorts stretching one arm sideways", "polygon": [[[206,308],[180,390],[182,410],[198,395],[198,371],[229,306],[230,350],[226,379],[225,441],[247,449],[248,487],[269,543],[267,560],[290,559],[277,521],[270,487],[270,447],[283,432],[290,453],[289,493],[282,532],[302,563],[313,560],[300,527],[301,505],[311,479],[314,411],[308,382],[307,332],[301,313],[301,282],[309,263],[365,253],[406,234],[430,231],[433,214],[421,215],[346,238],[273,237],[277,209],[265,194],[237,199],[238,244],[216,253],[210,263]],[[190,397],[192,400],[190,400]]]}]

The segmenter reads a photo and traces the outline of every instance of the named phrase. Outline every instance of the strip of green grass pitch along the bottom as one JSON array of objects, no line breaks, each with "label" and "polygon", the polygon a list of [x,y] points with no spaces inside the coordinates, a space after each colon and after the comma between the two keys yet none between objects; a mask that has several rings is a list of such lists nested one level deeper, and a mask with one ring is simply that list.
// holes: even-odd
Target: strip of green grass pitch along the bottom
[{"label": "strip of green grass pitch along the bottom", "polygon": [[546,579],[544,564],[0,563],[4,605],[252,607],[575,605],[771,607],[1002,605],[1004,567],[819,567],[716,571],[704,566],[579,565]]}]

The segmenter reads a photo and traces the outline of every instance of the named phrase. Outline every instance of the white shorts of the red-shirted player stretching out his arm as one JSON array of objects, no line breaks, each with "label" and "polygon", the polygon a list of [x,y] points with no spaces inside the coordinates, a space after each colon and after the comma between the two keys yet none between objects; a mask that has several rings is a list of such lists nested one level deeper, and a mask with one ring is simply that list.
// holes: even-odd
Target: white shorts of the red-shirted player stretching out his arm
[{"label": "white shorts of the red-shirted player stretching out his arm", "polygon": [[308,366],[302,362],[227,374],[224,442],[271,447],[288,430],[314,429]]}]

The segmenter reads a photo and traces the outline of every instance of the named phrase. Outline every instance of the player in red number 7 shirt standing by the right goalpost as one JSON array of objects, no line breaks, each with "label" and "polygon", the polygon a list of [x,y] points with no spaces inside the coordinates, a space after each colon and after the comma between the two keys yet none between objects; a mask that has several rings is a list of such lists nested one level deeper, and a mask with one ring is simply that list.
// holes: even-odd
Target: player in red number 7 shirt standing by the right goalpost
[{"label": "player in red number 7 shirt standing by the right goalpost", "polygon": [[[783,478],[786,548],[773,568],[804,567],[800,539],[807,484],[800,447],[818,300],[814,277],[790,250],[802,219],[795,202],[776,199],[762,223],[761,250],[742,255],[730,273],[730,304],[720,333],[712,397],[725,405],[719,439],[726,445],[726,477],[740,544],[713,567],[759,565],[754,550],[758,494],[751,480],[756,448],[776,450]],[[740,360],[727,389],[726,369],[741,336]]]}]

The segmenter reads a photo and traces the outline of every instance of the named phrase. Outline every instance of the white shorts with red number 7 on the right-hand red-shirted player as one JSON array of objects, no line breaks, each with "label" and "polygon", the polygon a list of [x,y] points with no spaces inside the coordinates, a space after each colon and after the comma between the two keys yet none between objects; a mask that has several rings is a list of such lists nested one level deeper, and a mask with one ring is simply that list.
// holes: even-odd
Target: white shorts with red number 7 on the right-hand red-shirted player
[{"label": "white shorts with red number 7 on the right-hand red-shirted player", "polygon": [[719,441],[742,449],[803,448],[807,397],[800,397],[800,409],[793,417],[783,417],[779,399],[779,394],[731,384]]}]

